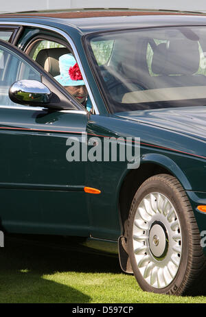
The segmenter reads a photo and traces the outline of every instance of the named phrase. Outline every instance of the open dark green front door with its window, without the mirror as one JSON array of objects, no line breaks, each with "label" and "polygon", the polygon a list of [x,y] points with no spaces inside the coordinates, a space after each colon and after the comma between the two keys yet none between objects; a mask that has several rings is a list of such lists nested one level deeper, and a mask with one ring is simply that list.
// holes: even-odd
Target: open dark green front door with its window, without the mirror
[{"label": "open dark green front door with its window, without the mirror", "polygon": [[[44,82],[54,104],[22,106],[8,90],[17,80]],[[82,140],[87,111],[38,64],[0,40],[0,221],[12,233],[89,234],[85,162],[67,161],[68,139]],[[71,143],[70,143],[71,144]]]}]

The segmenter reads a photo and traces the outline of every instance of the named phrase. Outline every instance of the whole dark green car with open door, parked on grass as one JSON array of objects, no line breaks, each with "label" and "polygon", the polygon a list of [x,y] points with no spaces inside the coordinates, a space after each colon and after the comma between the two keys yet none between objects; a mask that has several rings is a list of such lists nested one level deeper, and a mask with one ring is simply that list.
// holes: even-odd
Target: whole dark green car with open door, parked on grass
[{"label": "whole dark green car with open door, parked on grass", "polygon": [[202,291],[206,16],[0,17],[1,231],[118,252],[146,291]]}]

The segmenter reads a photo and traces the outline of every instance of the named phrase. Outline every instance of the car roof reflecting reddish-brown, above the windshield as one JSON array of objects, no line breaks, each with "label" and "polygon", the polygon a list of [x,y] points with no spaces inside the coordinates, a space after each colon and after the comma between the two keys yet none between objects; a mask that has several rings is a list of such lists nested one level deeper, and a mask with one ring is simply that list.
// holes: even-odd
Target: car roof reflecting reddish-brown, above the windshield
[{"label": "car roof reflecting reddish-brown, above the windshield", "polygon": [[169,10],[69,10],[0,14],[1,21],[73,27],[82,34],[135,27],[206,25],[206,14]]}]

